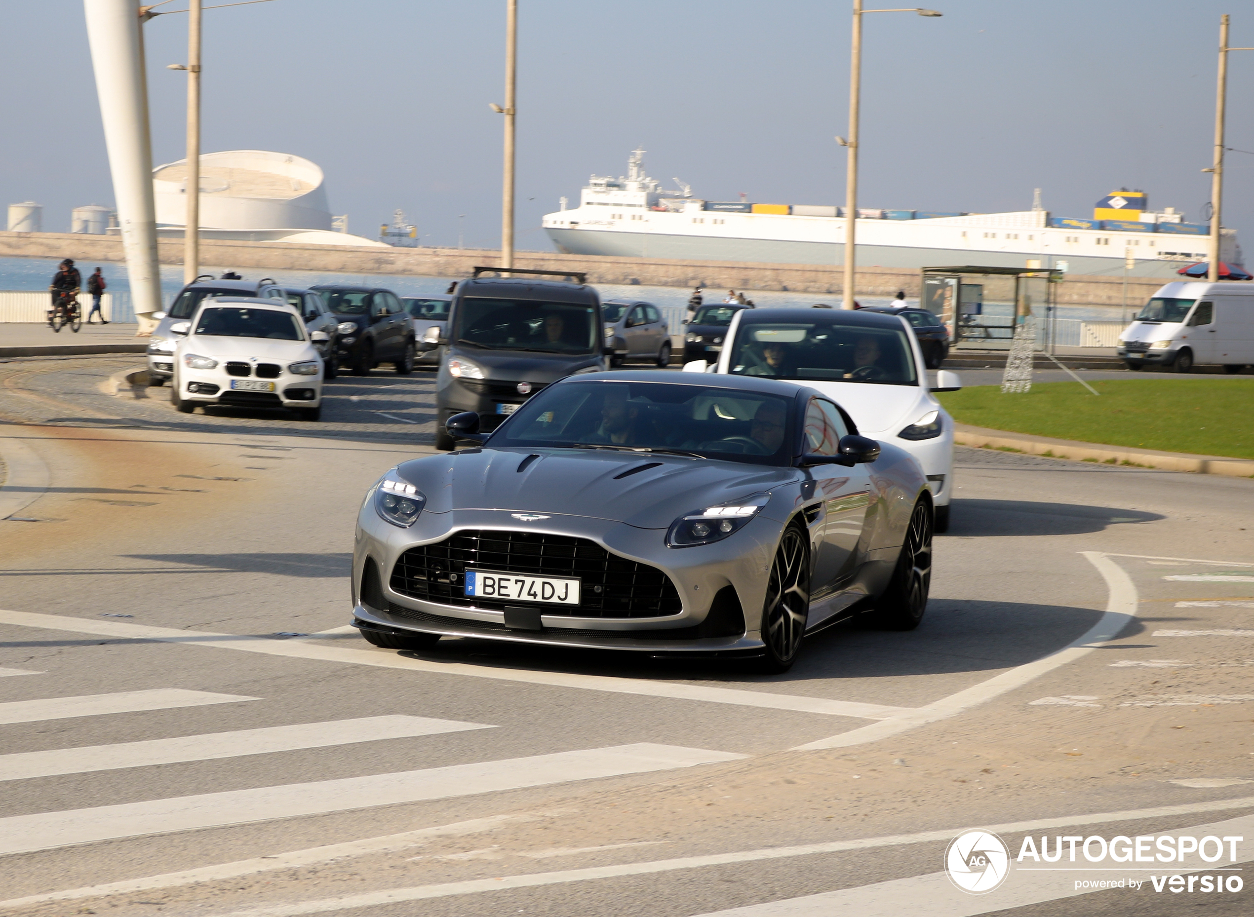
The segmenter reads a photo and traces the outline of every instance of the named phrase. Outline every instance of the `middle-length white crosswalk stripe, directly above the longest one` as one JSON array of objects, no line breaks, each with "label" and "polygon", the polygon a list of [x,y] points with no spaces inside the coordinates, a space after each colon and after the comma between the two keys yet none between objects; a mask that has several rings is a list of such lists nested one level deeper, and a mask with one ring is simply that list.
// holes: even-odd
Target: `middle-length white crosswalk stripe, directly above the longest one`
[{"label": "middle-length white crosswalk stripe, directly above the longest one", "polygon": [[0,780],[25,780],[33,777],[56,774],[88,774],[97,770],[142,768],[178,761],[208,761],[305,748],[329,748],[360,741],[460,733],[468,729],[493,729],[493,726],[482,723],[433,720],[425,716],[365,716],[355,720],[240,729],[229,733],[149,739],[117,745],[25,751],[0,755]]}]

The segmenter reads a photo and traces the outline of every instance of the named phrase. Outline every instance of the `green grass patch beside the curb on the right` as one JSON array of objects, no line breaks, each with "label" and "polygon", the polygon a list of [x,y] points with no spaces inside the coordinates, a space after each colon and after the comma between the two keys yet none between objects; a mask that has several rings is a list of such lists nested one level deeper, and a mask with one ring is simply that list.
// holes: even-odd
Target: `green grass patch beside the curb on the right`
[{"label": "green grass patch beside the curb on the right", "polygon": [[1045,383],[1027,394],[1003,395],[996,385],[979,385],[937,398],[958,423],[973,427],[1254,459],[1254,380],[1167,376],[1091,384],[1100,395],[1075,383]]}]

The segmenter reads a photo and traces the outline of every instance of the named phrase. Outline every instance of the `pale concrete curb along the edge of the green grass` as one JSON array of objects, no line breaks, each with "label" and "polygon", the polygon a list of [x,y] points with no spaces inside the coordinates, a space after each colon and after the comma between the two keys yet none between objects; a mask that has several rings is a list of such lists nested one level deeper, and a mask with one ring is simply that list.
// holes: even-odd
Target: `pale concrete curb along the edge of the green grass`
[{"label": "pale concrete curb along the edge of the green grass", "polygon": [[1045,458],[1071,459],[1073,462],[1097,462],[1107,465],[1131,465],[1134,468],[1155,468],[1166,472],[1193,472],[1195,474],[1221,474],[1228,478],[1254,478],[1254,460],[1224,458],[1223,455],[1190,455],[1183,452],[1154,452],[1152,449],[1134,449],[1120,445],[1099,445],[1081,443],[1075,439],[1051,439],[1032,437],[1026,433],[989,430],[983,427],[956,424],[953,433],[956,445],[972,445],[977,449],[1001,449],[1003,452],[1022,452]]}]

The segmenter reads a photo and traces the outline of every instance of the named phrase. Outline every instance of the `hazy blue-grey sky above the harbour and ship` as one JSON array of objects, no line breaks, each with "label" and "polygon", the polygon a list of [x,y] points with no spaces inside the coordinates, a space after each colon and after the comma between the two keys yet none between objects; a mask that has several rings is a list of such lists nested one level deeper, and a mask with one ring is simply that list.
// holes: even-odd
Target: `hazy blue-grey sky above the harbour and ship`
[{"label": "hazy blue-grey sky above the harbour and ship", "polygon": [[[218,0],[208,0],[211,4]],[[1231,0],[934,0],[942,19],[867,16],[859,203],[1087,217],[1114,188],[1199,221],[1210,197],[1220,13]],[[166,9],[186,6],[174,0]],[[709,199],[844,198],[848,0],[520,0],[518,245],[592,172]],[[204,15],[204,152],[296,153],[331,208],[377,232],[395,208],[425,245],[499,245],[504,0],[275,0]],[[75,0],[10,0],[0,54],[0,192],[44,228],[112,203]],[[183,157],[187,16],[145,28],[155,163]],[[1254,51],[1230,55],[1228,146],[1254,151]],[[1230,153],[1225,225],[1254,246],[1254,154]]]}]

